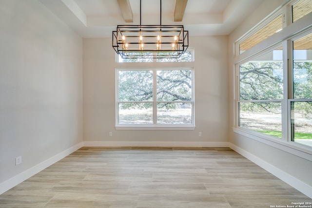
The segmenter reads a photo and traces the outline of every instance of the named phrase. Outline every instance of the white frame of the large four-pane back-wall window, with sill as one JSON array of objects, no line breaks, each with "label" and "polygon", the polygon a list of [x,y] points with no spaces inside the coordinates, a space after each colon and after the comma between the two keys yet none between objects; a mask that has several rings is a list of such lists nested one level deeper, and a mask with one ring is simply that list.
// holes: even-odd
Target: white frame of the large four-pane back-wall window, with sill
[{"label": "white frame of the large four-pane back-wall window, with sill", "polygon": [[[191,101],[157,101],[156,100],[156,73],[157,71],[190,70],[192,73],[192,100]],[[119,71],[153,71],[153,100],[139,101],[140,103],[153,103],[153,124],[119,124],[119,103],[125,103],[118,100],[118,72]],[[117,130],[194,130],[195,129],[195,84],[194,67],[152,67],[152,68],[116,68],[116,122]],[[192,105],[192,123],[191,124],[157,124],[157,103],[191,103]],[[129,103],[129,102],[127,102]]]}]

